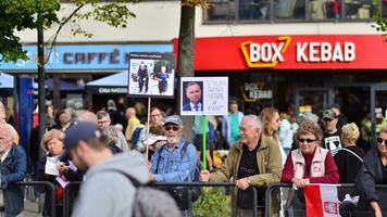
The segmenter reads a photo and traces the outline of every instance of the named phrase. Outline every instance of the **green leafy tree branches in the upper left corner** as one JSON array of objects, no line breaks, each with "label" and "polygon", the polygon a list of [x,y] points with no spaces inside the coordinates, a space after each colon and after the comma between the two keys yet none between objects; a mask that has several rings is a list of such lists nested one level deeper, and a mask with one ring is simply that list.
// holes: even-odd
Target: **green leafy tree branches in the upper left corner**
[{"label": "green leafy tree branches in the upper left corner", "polygon": [[[27,60],[20,37],[15,36],[16,30],[34,29],[38,26],[47,29],[59,24],[50,42],[49,49],[51,49],[62,27],[67,23],[74,24],[78,20],[92,18],[113,27],[127,27],[128,18],[135,17],[135,14],[127,8],[127,3],[138,1],[116,0],[100,3],[100,0],[73,0],[71,2],[76,5],[76,9],[68,16],[60,18],[58,16],[61,9],[60,0],[0,0],[0,62]],[[91,5],[89,10],[80,10],[88,4]],[[72,31],[74,35],[92,36],[80,26],[72,26]]]}]

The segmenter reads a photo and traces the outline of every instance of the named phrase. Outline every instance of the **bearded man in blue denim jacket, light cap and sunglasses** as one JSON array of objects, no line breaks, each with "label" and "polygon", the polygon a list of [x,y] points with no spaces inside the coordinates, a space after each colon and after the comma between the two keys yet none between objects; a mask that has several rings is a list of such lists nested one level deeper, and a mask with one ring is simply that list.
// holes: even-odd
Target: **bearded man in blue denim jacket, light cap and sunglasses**
[{"label": "bearded man in blue denim jacket, light cap and sunglasses", "polygon": [[[196,148],[189,143],[185,145],[183,136],[183,120],[177,115],[164,119],[166,144],[155,150],[151,158],[149,180],[160,182],[191,182],[195,178],[197,164]],[[176,197],[175,197],[176,200]],[[176,201],[177,202],[177,201]],[[189,202],[188,202],[189,203]],[[182,208],[184,216],[191,216],[190,204]]]}]

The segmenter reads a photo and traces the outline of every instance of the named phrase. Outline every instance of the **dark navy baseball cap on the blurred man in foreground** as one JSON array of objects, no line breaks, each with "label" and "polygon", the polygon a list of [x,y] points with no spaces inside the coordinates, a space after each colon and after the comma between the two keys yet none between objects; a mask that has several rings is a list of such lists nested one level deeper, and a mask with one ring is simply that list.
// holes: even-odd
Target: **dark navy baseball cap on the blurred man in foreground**
[{"label": "dark navy baseball cap on the blurred man in foreground", "polygon": [[97,125],[90,122],[77,122],[66,130],[64,138],[64,153],[60,159],[70,158],[70,150],[75,148],[80,140],[88,140],[92,138],[100,138],[101,132]]}]

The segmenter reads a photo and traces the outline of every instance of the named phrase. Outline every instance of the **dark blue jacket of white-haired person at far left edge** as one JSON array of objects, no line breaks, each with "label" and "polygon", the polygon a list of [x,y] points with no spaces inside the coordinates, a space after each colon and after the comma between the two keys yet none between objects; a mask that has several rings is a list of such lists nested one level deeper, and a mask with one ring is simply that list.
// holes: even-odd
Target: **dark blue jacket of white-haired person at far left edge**
[{"label": "dark blue jacket of white-haired person at far left edge", "polygon": [[20,145],[12,145],[5,159],[1,163],[1,187],[3,188],[5,216],[16,216],[24,208],[25,187],[12,186],[23,181],[27,170],[26,153]]}]

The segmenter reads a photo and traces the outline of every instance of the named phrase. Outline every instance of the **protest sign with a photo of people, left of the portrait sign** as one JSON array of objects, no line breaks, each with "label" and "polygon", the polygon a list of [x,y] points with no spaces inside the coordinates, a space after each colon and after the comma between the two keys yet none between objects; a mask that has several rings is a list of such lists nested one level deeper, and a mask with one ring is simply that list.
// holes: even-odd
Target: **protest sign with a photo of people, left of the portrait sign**
[{"label": "protest sign with a photo of people, left of the portrait sign", "polygon": [[174,53],[129,53],[129,97],[173,98]]}]

